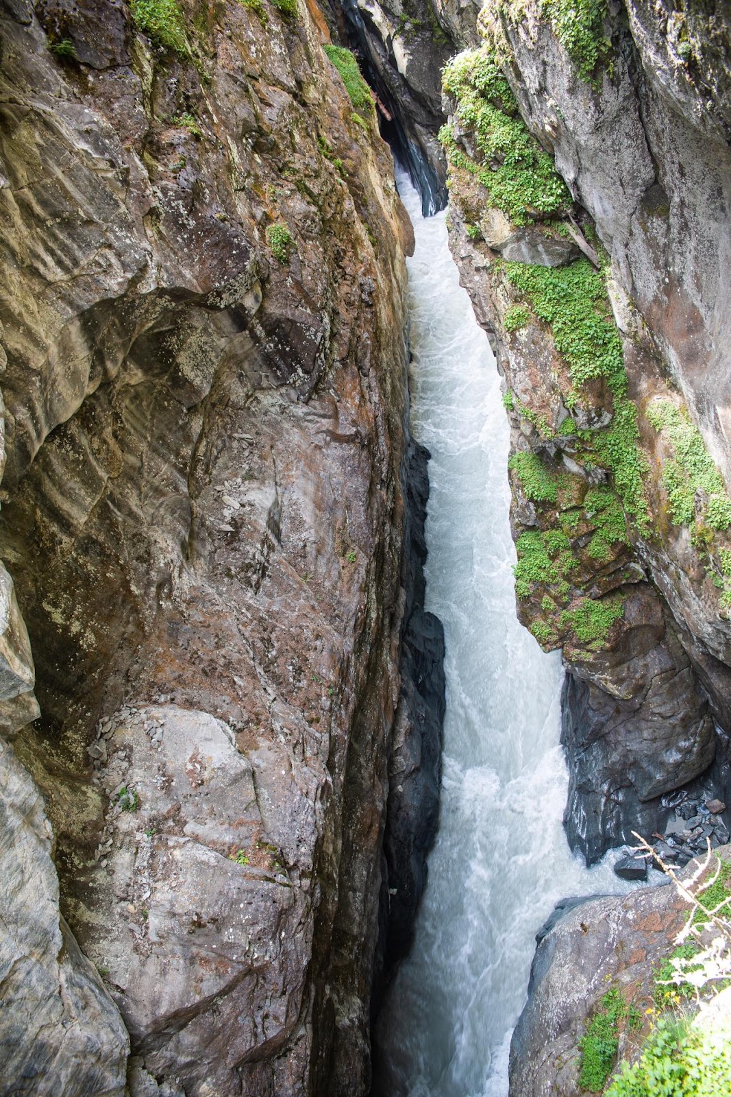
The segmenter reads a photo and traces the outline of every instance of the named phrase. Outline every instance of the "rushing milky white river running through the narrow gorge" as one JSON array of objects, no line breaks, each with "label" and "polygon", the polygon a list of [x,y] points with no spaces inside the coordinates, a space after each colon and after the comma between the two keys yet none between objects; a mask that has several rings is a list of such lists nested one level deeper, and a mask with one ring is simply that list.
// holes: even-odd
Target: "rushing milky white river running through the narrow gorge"
[{"label": "rushing milky white river running through the narrow gorge", "polygon": [[515,617],[509,425],[500,378],[447,246],[399,190],[409,262],[411,427],[432,452],[426,608],[446,634],[439,830],[410,957],[378,1022],[378,1097],[505,1097],[535,935],[566,895],[625,890],[571,856],[561,819],[561,658]]}]

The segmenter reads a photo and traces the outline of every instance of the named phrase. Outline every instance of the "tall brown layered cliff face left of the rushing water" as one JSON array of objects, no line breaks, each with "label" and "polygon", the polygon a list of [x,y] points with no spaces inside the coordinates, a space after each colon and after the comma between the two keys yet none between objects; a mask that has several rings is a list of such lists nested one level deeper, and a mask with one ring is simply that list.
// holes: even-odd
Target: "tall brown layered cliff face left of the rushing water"
[{"label": "tall brown layered cliff face left of the rushing water", "polygon": [[135,11],[0,25],[0,1089],[361,1094],[408,219],[318,9]]}]

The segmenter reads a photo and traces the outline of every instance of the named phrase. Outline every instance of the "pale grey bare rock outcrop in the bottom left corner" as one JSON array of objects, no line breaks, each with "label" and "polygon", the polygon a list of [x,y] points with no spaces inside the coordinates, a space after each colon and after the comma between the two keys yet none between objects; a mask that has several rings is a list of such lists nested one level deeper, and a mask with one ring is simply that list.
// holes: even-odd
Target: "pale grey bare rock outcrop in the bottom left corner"
[{"label": "pale grey bare rock outcrop in the bottom left corner", "polygon": [[123,1097],[129,1037],[58,914],[43,800],[0,742],[0,1093]]}]

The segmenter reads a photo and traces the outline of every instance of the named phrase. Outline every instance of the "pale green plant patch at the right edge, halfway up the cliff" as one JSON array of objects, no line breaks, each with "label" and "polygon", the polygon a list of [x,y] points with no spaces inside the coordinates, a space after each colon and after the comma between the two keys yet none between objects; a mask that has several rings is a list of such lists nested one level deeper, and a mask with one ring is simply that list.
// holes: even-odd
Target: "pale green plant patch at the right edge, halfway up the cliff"
[{"label": "pale green plant patch at the right edge, halfway up the cliff", "polygon": [[[655,400],[648,419],[673,450],[665,462],[662,483],[667,493],[667,511],[675,525],[690,525],[696,517],[712,530],[731,527],[731,499],[718,468],[706,449],[698,428],[688,414],[670,400]],[[696,493],[707,502],[696,516]]]}]

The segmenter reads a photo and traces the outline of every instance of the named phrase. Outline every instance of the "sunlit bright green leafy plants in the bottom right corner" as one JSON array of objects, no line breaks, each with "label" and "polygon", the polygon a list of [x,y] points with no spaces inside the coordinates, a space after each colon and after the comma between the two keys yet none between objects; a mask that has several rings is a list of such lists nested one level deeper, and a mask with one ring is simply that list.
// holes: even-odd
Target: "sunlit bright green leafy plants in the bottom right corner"
[{"label": "sunlit bright green leafy plants in the bottom right corner", "polygon": [[623,1063],[607,1097],[720,1097],[731,1093],[731,1043],[661,1018],[642,1054]]}]

